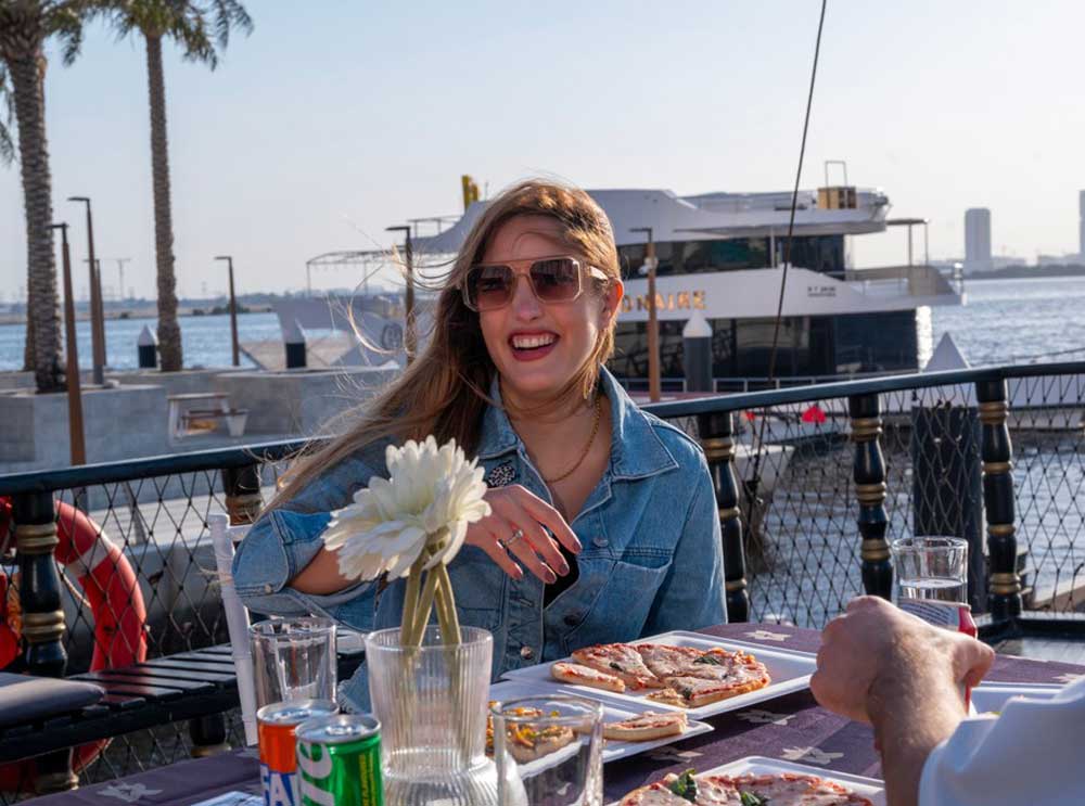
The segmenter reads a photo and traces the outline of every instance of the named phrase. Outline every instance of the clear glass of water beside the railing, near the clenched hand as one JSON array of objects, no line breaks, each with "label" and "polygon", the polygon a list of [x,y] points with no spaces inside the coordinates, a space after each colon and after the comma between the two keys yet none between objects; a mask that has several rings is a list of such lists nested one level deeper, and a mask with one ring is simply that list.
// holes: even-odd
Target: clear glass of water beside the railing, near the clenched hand
[{"label": "clear glass of water beside the railing, near the clenched hand", "polygon": [[902,537],[893,541],[897,604],[968,602],[968,541],[959,537]]}]

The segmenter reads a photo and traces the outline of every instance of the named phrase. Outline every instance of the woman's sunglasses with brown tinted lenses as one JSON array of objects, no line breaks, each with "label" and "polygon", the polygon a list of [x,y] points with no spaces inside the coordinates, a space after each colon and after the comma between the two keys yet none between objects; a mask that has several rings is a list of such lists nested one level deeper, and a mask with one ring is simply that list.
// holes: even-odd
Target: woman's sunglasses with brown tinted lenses
[{"label": "woman's sunglasses with brown tinted lenses", "polygon": [[[515,269],[526,266],[527,271]],[[527,277],[540,303],[571,303],[584,292],[584,274],[607,280],[595,266],[584,266],[575,257],[542,257],[508,260],[503,264],[472,266],[463,281],[463,304],[471,310],[496,310],[512,302],[520,278]]]}]

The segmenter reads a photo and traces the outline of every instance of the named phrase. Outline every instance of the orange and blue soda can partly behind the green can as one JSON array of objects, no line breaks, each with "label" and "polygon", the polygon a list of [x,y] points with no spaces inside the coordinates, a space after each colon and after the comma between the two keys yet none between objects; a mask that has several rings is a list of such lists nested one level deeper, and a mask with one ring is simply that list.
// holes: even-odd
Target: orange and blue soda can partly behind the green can
[{"label": "orange and blue soda can partly behind the green can", "polygon": [[265,806],[297,806],[301,803],[294,731],[308,719],[337,712],[331,700],[273,703],[256,712]]}]

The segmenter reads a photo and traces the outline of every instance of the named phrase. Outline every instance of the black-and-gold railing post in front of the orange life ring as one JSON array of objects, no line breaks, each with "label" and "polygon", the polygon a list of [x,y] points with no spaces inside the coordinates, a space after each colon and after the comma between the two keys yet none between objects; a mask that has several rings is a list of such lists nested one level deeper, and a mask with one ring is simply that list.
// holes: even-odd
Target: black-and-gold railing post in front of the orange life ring
[{"label": "black-and-gold railing post in front of the orange life ring", "polygon": [[[27,671],[42,677],[63,677],[67,653],[64,651],[61,576],[53,561],[53,549],[60,540],[52,492],[15,496],[12,520],[18,553],[18,602],[23,610]],[[35,790],[38,793],[63,792],[78,784],[79,779],[72,771],[71,750],[48,753],[37,759]]]}]

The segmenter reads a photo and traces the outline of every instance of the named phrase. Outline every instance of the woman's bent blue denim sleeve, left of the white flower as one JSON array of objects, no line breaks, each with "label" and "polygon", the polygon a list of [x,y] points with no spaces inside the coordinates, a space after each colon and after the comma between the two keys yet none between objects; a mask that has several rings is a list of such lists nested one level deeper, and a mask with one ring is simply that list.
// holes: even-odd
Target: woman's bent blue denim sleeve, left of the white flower
[{"label": "woman's bent blue denim sleeve, left of the white flower", "polygon": [[314,596],[288,585],[323,546],[331,512],[349,503],[371,475],[367,462],[347,459],[252,525],[233,558],[233,583],[246,607],[281,616],[328,613],[375,587],[371,581],[359,583],[336,593]]}]

